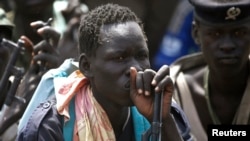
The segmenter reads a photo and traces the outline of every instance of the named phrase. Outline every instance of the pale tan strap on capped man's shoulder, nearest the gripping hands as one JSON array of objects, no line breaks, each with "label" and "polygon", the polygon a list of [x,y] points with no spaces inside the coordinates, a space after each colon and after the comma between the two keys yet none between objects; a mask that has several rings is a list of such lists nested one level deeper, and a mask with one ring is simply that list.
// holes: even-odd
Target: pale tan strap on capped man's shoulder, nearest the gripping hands
[{"label": "pale tan strap on capped man's shoulder, nearest the gripping hands", "polygon": [[182,72],[179,73],[176,79],[176,84],[180,91],[182,108],[186,113],[189,123],[191,125],[191,133],[195,136],[197,141],[206,141],[206,132],[201,125],[201,121],[198,117],[198,113],[194,105],[191,92],[188,88],[187,82]]}]

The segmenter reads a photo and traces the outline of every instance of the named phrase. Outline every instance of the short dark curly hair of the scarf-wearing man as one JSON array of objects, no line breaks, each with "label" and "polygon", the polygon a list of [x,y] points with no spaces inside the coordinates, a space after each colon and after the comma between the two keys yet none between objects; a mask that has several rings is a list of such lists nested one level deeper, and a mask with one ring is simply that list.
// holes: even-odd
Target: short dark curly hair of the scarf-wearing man
[{"label": "short dark curly hair of the scarf-wearing man", "polygon": [[128,7],[108,3],[89,11],[83,15],[80,22],[79,53],[86,53],[88,56],[95,55],[96,48],[101,44],[99,34],[102,25],[128,21],[137,22],[143,29],[141,20]]}]

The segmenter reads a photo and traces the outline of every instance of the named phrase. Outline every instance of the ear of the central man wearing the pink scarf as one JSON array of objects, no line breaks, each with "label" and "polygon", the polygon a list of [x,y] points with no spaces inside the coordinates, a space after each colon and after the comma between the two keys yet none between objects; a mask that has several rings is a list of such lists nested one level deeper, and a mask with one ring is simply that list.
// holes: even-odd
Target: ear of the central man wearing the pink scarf
[{"label": "ear of the central man wearing the pink scarf", "polygon": [[91,63],[89,58],[85,53],[82,53],[79,57],[79,69],[88,78],[92,77]]}]

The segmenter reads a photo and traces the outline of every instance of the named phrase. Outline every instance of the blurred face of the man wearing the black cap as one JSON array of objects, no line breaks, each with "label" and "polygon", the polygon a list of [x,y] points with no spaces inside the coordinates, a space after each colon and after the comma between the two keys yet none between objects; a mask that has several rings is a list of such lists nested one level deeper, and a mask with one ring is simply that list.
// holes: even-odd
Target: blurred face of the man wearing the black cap
[{"label": "blurred face of the man wearing the black cap", "polygon": [[248,63],[250,24],[209,26],[201,23],[194,28],[210,68],[224,73],[237,73]]}]

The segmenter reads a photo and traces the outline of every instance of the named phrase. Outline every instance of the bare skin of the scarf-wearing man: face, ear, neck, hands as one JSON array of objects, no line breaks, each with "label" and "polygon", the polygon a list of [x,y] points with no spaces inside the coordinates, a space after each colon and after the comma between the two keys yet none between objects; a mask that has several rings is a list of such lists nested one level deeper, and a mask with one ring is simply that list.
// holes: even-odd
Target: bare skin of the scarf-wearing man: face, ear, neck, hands
[{"label": "bare skin of the scarf-wearing man: face, ear, neck, hands", "polygon": [[102,44],[94,55],[80,55],[79,68],[89,78],[93,95],[106,111],[116,138],[122,133],[129,106],[135,105],[152,121],[154,92],[163,90],[162,139],[181,140],[169,114],[173,93],[169,68],[163,66],[158,72],[150,69],[148,48],[139,25],[104,25],[100,40]]}]

